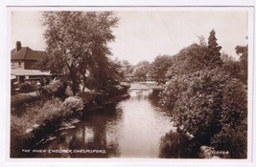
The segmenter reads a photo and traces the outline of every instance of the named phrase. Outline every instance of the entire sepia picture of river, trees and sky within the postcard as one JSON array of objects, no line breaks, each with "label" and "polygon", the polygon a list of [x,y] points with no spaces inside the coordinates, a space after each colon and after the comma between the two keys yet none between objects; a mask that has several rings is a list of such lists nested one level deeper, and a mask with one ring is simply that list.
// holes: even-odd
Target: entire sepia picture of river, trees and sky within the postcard
[{"label": "entire sepia picture of river, trees and sky within the postcard", "polygon": [[10,157],[248,159],[252,7],[10,8]]}]

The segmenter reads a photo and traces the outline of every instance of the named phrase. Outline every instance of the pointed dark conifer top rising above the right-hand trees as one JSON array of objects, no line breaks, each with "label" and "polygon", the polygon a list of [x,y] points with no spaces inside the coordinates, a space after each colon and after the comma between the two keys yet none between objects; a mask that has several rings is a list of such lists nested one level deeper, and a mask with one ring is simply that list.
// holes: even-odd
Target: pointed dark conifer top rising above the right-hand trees
[{"label": "pointed dark conifer top rising above the right-hand trees", "polygon": [[215,31],[210,31],[210,36],[208,38],[207,53],[204,54],[204,63],[206,67],[216,68],[221,67],[221,46],[218,46],[217,38],[215,36]]}]

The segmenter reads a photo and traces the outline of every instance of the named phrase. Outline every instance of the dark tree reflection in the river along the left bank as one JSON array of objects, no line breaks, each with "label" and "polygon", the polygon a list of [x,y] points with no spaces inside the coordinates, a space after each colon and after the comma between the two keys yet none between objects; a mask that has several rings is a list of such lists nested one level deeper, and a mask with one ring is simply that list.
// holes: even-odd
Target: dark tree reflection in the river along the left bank
[{"label": "dark tree reflection in the river along the left bank", "polygon": [[[113,113],[115,106],[95,111],[95,115],[85,117],[75,124],[76,129],[61,130],[57,139],[41,149],[45,154],[37,157],[118,157],[118,142],[114,132],[120,115]],[[120,118],[119,118],[120,119]],[[49,153],[49,151],[68,150],[68,153]]]}]

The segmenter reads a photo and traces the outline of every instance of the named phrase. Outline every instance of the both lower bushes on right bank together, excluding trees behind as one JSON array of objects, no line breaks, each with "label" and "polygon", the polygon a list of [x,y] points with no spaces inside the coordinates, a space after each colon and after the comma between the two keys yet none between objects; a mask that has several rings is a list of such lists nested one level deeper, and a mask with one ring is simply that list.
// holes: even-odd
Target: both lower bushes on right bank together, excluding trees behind
[{"label": "both lower bushes on right bank together, excluding trees behind", "polygon": [[216,68],[174,77],[160,101],[198,145],[212,144],[229,151],[231,157],[245,157],[246,95],[243,82]]}]

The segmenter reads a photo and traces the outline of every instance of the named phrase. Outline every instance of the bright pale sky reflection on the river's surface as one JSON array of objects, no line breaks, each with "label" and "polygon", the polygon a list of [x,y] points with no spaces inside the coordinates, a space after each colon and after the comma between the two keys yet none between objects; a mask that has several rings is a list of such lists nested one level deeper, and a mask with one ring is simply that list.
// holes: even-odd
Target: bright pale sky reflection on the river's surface
[{"label": "bright pale sky reflection on the river's surface", "polygon": [[149,101],[151,90],[132,91],[127,102],[120,103],[124,119],[120,129],[121,157],[158,157],[160,137],[171,129],[170,117]]}]

